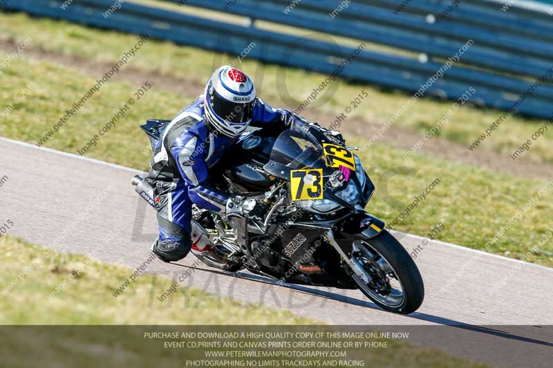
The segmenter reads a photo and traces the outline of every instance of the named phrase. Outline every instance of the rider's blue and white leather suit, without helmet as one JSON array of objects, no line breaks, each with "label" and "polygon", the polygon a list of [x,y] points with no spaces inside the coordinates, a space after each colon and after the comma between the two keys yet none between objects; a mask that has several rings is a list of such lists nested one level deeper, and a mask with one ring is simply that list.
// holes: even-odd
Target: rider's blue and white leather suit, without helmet
[{"label": "rider's blue and white leather suit, without helmet", "polygon": [[[158,203],[159,243],[191,244],[191,206],[225,213],[229,195],[209,184],[209,168],[217,164],[235,144],[238,137],[229,137],[209,126],[205,117],[205,95],[201,95],[182,110],[165,129],[154,150],[153,169],[171,175],[171,182],[162,183],[156,197]],[[253,107],[252,125],[263,128],[286,128],[290,122],[300,124],[288,110],[272,108],[261,99]],[[274,124],[274,125],[273,125]],[[157,174],[157,177],[164,175]],[[152,179],[152,175],[150,176]],[[156,187],[160,187],[158,181]],[[184,231],[179,231],[184,230]],[[182,256],[184,257],[184,255]],[[182,258],[181,257],[181,258]]]}]

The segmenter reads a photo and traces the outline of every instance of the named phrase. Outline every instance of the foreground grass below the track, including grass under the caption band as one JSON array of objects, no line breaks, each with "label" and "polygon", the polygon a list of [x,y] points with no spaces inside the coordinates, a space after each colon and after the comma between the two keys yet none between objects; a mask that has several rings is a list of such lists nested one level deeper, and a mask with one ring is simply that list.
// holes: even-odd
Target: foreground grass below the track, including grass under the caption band
[{"label": "foreground grass below the track, including grass under the caption band", "polygon": [[[66,325],[0,327],[3,367],[175,367],[185,358],[205,359],[204,349],[164,349],[162,340],[144,338],[144,331],[180,330],[75,325],[321,325],[288,311],[186,287],[178,288],[171,307],[156,300],[149,305],[153,275],[147,273],[115,298],[112,293],[129,278],[130,269],[46,251],[10,236],[0,238],[0,249],[0,325]],[[12,282],[4,295],[3,288]],[[171,284],[165,277],[155,282],[156,290]],[[389,341],[388,348],[366,349],[362,358],[382,367],[485,367],[398,341]]]}]

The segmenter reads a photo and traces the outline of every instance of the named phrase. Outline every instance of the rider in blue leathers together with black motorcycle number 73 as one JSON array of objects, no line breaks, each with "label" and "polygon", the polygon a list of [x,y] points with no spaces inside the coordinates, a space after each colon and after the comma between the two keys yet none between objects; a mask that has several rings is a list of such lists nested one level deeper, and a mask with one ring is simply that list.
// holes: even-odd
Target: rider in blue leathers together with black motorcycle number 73
[{"label": "rider in blue leathers together with black motorcycle number 73", "polygon": [[140,128],[153,156],[132,184],[157,209],[161,260],[192,251],[208,267],[279,284],[359,289],[386,311],[422,304],[420,271],[364,210],[375,186],[338,131],[263,103],[230,66],[173,120]]}]

